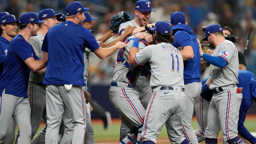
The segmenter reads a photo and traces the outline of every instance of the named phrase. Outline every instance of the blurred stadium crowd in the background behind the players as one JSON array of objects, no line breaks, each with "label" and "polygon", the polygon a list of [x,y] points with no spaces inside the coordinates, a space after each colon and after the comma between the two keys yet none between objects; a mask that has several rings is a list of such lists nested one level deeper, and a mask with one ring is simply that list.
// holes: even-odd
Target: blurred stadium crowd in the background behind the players
[{"label": "blurred stadium crowd in the background behind the players", "polygon": [[[73,0],[0,0],[0,11],[20,17],[24,12],[40,12],[52,8],[56,13],[65,13],[66,5]],[[90,8],[90,14],[98,17],[93,21],[94,36],[99,38],[108,32],[109,19],[115,13],[126,11],[134,18],[136,0],[82,0],[84,6]],[[219,23],[222,27],[229,26],[240,38],[238,50],[244,52],[244,47],[250,28],[252,33],[246,53],[247,70],[256,74],[256,0],[151,0],[156,12],[151,13],[149,23],[159,20],[170,20],[170,14],[175,11],[184,12],[188,25],[194,30],[199,39],[204,32],[202,26]],[[109,41],[118,35],[112,36]],[[116,62],[116,54],[100,60],[94,54],[89,60],[90,84],[109,85]]]}]

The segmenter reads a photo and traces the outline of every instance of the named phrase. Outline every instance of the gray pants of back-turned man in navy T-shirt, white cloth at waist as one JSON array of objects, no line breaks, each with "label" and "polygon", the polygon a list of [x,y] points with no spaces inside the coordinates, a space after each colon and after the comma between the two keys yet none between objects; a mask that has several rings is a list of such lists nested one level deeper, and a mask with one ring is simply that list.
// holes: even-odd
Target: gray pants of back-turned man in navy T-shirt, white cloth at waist
[{"label": "gray pants of back-turned man in navy T-shirt, white cloth at waist", "polygon": [[64,109],[67,108],[72,117],[74,132],[72,143],[82,144],[84,142],[86,120],[84,92],[81,86],[73,85],[66,90],[64,85],[46,86],[46,112],[47,129],[45,135],[46,144],[57,144],[59,127]]}]

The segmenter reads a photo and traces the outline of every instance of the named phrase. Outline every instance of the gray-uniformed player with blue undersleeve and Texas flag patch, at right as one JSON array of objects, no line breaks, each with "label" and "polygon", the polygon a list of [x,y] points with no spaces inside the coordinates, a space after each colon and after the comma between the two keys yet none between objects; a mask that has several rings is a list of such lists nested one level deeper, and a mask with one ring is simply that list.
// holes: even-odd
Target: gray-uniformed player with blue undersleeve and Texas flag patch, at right
[{"label": "gray-uniformed player with blue undersleeve and Texas flag patch, at right", "polygon": [[[238,50],[231,41],[225,40],[218,24],[207,26],[205,32],[203,40],[208,40],[215,48],[212,56],[205,54],[200,48],[202,58],[211,64],[211,78],[208,81],[209,88],[214,93],[207,115],[205,143],[217,144],[219,128],[224,141],[229,144],[246,143],[237,135],[238,110],[242,101],[242,93],[237,91]],[[205,86],[202,89],[204,91]]]}]

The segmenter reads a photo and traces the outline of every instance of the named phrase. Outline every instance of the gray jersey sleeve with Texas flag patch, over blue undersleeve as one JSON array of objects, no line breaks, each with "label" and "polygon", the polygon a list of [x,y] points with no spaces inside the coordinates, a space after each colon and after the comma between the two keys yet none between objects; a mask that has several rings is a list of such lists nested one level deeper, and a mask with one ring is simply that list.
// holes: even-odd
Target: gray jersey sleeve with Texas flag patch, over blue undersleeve
[{"label": "gray jersey sleeve with Texas flag patch, over blue undersleeve", "polygon": [[218,56],[220,56],[221,58],[224,58],[224,60],[226,60],[227,64],[229,64],[232,56],[235,52],[236,48],[234,46],[234,44],[231,43],[223,43],[220,47],[220,49],[218,50]]}]

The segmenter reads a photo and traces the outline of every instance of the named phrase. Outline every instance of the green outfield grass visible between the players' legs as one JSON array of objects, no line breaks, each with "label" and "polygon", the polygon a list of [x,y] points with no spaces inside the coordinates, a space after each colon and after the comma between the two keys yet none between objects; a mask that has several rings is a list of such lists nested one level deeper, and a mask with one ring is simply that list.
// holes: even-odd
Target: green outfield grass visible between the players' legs
[{"label": "green outfield grass visible between the players' legs", "polygon": [[[256,125],[254,119],[246,120],[245,126],[250,132],[256,132]],[[194,129],[198,128],[197,122],[195,120],[192,121],[192,126]],[[93,122],[94,132],[95,132],[95,141],[96,142],[118,142],[119,140],[119,131],[120,131],[120,123],[114,122],[112,126],[108,130],[104,130],[102,123],[100,122]],[[38,132],[43,128],[40,126]],[[18,129],[16,128],[16,132]],[[38,134],[37,132],[37,134]],[[37,135],[36,134],[36,135]],[[220,132],[221,135],[221,132]],[[159,139],[168,139],[166,128],[163,127]],[[164,144],[164,143],[161,143]]]}]

